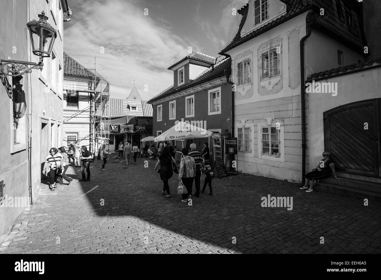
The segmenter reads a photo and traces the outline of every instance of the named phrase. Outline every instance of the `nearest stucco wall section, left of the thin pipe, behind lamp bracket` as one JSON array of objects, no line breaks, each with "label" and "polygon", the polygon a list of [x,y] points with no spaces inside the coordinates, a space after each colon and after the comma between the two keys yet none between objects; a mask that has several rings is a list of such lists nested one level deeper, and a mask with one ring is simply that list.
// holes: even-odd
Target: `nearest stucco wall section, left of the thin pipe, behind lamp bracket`
[{"label": "nearest stucco wall section, left of the thin pipe, behind lamp bracket", "polygon": [[[17,2],[17,3],[16,3]],[[2,1],[0,9],[0,58],[27,61],[27,38],[26,28],[27,1]],[[9,77],[9,76],[8,76]],[[28,100],[28,78],[24,75],[21,83]],[[10,81],[12,79],[10,78]],[[18,152],[12,153],[13,149],[13,110],[12,99],[8,97],[5,87],[0,83],[0,132],[2,134],[2,146],[0,150],[0,181],[4,181],[4,195],[7,197],[28,197],[28,122],[24,136],[24,147]],[[27,106],[26,114],[29,113]],[[28,199],[29,200],[29,199]],[[4,202],[7,203],[7,202]],[[5,205],[5,204],[3,204]],[[14,219],[24,211],[24,207],[0,207],[0,235],[3,234]]]}]

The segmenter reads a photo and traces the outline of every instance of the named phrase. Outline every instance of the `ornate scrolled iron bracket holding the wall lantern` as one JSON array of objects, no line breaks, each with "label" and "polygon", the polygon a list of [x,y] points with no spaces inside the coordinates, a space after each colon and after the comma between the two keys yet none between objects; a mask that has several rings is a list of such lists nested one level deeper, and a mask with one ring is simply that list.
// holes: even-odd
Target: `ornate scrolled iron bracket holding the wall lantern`
[{"label": "ornate scrolled iron bracket holding the wall lantern", "polygon": [[28,61],[19,61],[19,60],[9,60],[9,59],[0,59],[0,76],[12,76],[17,77],[25,73],[32,73],[33,69],[43,68],[42,59],[40,62],[28,62]]}]

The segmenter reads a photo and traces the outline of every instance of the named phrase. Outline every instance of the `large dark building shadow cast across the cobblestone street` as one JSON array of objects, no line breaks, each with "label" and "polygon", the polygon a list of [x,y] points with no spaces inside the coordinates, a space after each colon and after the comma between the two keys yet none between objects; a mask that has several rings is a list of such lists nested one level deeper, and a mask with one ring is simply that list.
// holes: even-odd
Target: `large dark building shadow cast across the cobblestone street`
[{"label": "large dark building shadow cast across the cobblestone street", "polygon": [[[274,253],[272,249],[277,253],[286,249],[285,243],[293,253],[324,253],[319,237],[325,234],[331,240],[329,246],[337,247],[336,253],[344,253],[343,247],[338,246],[344,242],[340,232],[347,225],[332,222],[335,220],[332,217],[345,214],[349,209],[362,216],[370,215],[364,207],[336,209],[331,205],[333,199],[347,200],[353,205],[358,198],[318,192],[306,198],[297,184],[247,174],[213,179],[213,196],[208,195],[207,186],[205,193],[199,198],[192,196],[192,205],[188,205],[182,203],[181,195],[177,194],[178,175],[174,174],[169,180],[172,197],[165,198],[163,183],[154,171],[155,162],[148,161],[149,167],[144,168],[145,160],[138,158],[137,165],[131,160],[132,164],[130,162],[126,169],[124,160],[110,158],[107,171],[99,168],[102,161],[92,163],[91,181],[80,182],[80,187],[98,216],[135,217],[165,232],[241,253]],[[236,183],[238,177],[240,185]],[[202,175],[201,189],[203,178]],[[258,187],[252,187],[253,182]],[[194,195],[194,185],[192,190]],[[293,211],[263,208],[261,197],[267,194],[292,196]],[[324,195],[330,199],[322,199]],[[335,233],[329,232],[331,229],[335,229]],[[147,235],[152,236],[152,231],[147,231]],[[309,246],[312,251],[302,246]]]}]

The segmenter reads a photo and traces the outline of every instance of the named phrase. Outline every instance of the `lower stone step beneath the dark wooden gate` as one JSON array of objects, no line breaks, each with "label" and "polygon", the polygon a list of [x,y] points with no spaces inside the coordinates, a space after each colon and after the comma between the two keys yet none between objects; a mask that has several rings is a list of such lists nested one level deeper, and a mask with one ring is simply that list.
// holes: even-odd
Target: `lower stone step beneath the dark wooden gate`
[{"label": "lower stone step beneath the dark wooden gate", "polygon": [[351,187],[331,184],[323,181],[315,183],[314,190],[317,190],[318,192],[327,192],[328,194],[339,194],[349,197],[367,198],[368,200],[381,201],[381,194],[378,192],[354,189]]}]

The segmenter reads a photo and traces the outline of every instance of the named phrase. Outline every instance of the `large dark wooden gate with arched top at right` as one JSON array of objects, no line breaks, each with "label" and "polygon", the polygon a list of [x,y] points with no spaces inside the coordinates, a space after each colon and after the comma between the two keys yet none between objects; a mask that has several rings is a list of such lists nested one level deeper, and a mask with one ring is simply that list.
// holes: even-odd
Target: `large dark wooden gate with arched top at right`
[{"label": "large dark wooden gate with arched top at right", "polygon": [[379,176],[378,103],[358,102],[324,113],[325,149],[340,170]]}]

